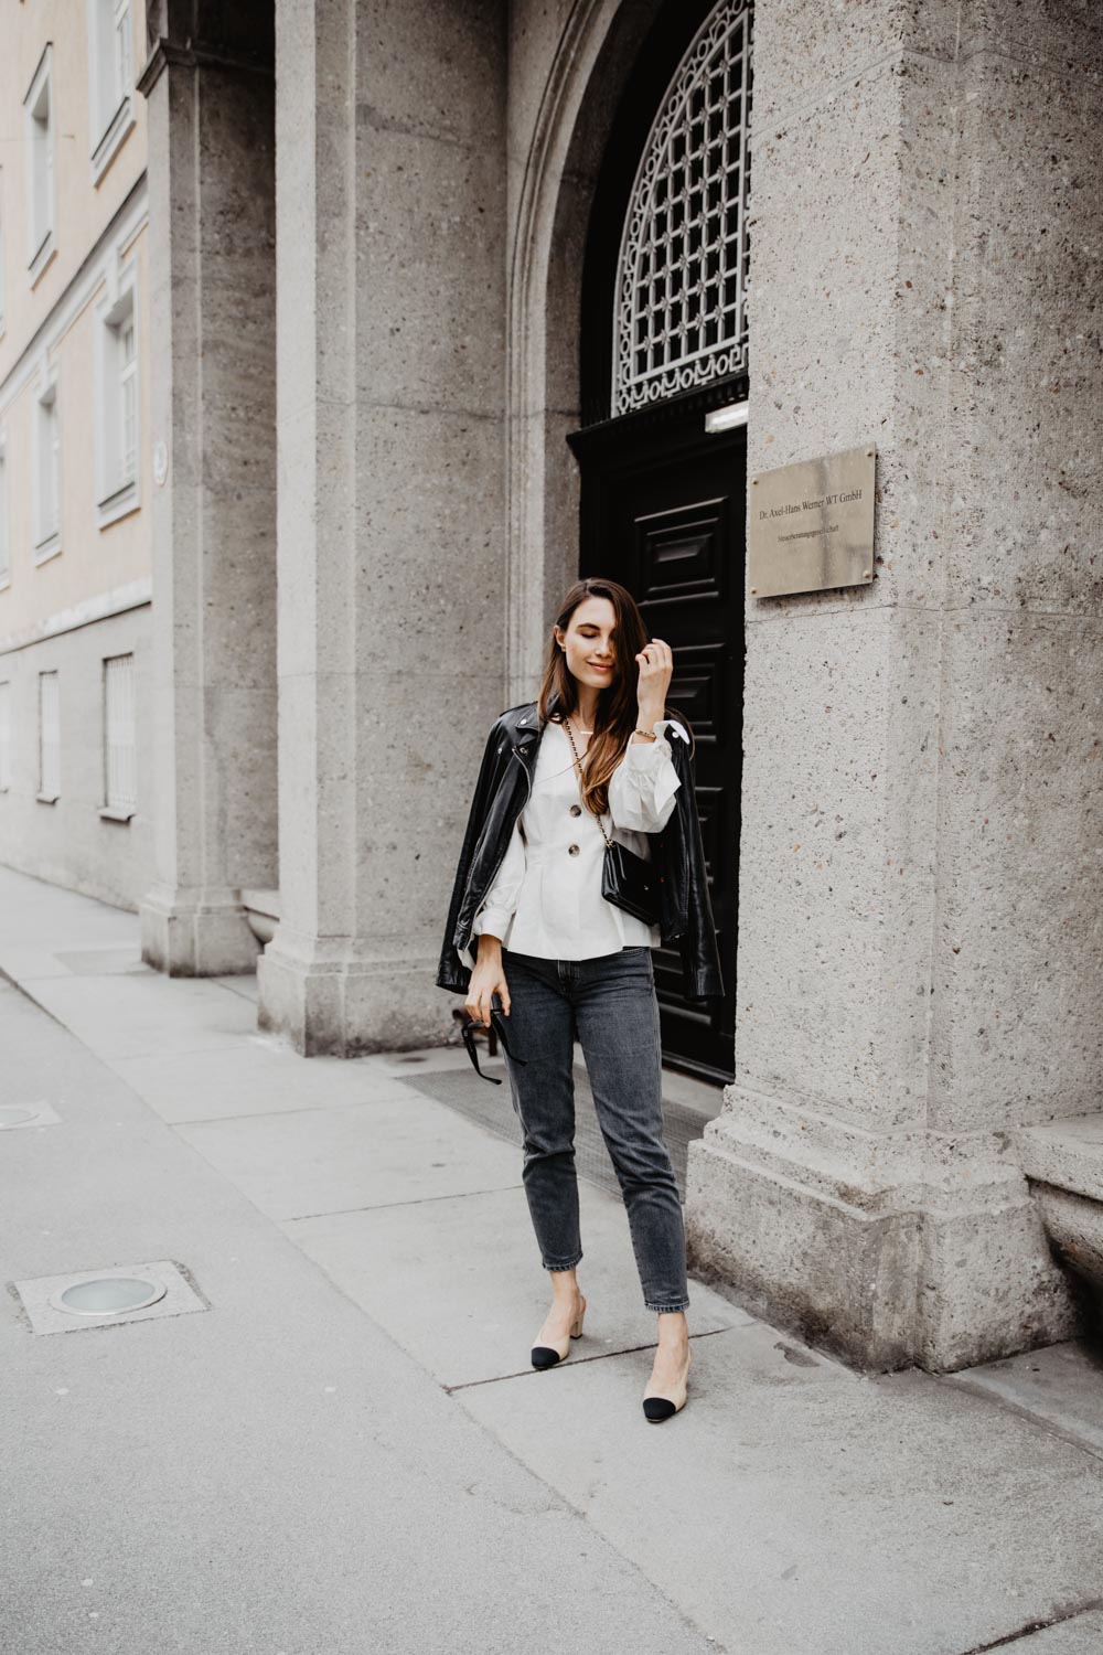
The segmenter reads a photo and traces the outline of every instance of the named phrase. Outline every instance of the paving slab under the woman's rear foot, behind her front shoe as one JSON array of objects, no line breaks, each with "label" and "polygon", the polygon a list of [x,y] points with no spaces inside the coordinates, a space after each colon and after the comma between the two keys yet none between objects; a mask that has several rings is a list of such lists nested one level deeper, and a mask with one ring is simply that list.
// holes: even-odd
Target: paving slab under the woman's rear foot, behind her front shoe
[{"label": "paving slab under the woman's rear foot, behind her front shoe", "polygon": [[[623,1202],[580,1178],[579,1213],[587,1311],[571,1360],[653,1347],[655,1316],[643,1307]],[[442,1385],[536,1374],[529,1349],[547,1312],[549,1286],[521,1183],[291,1220],[284,1230]],[[400,1266],[380,1268],[380,1259]],[[701,1283],[690,1284],[695,1334],[752,1319]]]}]

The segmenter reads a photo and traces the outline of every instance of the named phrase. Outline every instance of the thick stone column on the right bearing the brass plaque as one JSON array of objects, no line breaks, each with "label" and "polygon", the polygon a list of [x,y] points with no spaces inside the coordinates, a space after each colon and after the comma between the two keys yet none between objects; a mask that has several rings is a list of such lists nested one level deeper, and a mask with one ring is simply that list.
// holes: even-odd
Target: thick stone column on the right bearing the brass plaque
[{"label": "thick stone column on the right bearing the brass plaque", "polygon": [[1083,1326],[1010,1134],[1103,1081],[1100,46],[1014,0],[756,8],[751,473],[873,444],[876,578],[747,597],[736,1084],[686,1216],[873,1369]]}]

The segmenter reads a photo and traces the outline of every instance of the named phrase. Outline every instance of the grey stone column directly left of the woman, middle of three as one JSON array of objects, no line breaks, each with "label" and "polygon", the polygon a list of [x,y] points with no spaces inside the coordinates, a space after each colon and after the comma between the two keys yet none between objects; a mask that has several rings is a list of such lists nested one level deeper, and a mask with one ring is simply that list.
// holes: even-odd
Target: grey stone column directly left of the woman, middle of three
[{"label": "grey stone column directly left of the woman, middle of three", "polygon": [[440,1038],[503,710],[504,8],[278,0],[279,892],[260,1021]]}]

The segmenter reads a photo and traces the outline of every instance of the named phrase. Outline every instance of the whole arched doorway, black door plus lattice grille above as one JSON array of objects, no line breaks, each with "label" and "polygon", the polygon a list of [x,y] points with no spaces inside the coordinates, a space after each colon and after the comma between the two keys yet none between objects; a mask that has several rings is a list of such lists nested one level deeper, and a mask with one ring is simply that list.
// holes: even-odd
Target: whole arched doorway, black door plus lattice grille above
[{"label": "whole arched doorway, black door plus lattice grille above", "polygon": [[657,950],[655,980],[665,1059],[716,1081],[733,1079],[736,1018],[749,104],[751,5],[665,7],[594,195],[584,424],[567,439],[580,467],[579,573],[627,586],[652,636],[673,645],[668,700],[696,738],[728,995],[711,1015],[688,1003],[675,948]]}]

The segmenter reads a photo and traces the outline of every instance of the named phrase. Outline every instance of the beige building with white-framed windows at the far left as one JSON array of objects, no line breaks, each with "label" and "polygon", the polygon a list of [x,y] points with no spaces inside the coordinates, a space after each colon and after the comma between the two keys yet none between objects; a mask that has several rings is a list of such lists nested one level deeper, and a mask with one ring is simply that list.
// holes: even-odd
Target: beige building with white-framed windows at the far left
[{"label": "beige building with white-framed windows at the far left", "polygon": [[154,487],[141,0],[3,0],[0,857],[150,879]]}]

